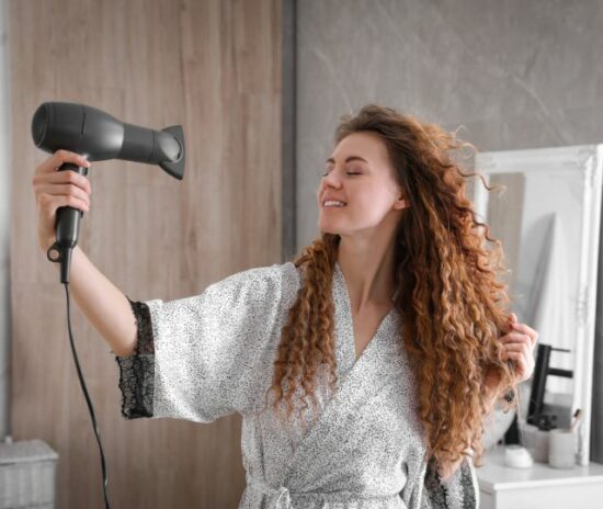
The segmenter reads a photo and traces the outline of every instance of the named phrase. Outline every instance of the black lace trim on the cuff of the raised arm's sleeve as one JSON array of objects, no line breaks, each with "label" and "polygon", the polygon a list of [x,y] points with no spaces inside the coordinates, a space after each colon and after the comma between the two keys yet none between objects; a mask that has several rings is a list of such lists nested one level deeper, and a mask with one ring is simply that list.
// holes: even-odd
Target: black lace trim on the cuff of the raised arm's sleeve
[{"label": "black lace trim on the cuff of the raised arm's sleeve", "polygon": [[[126,297],[127,298],[127,297]],[[148,306],[128,298],[136,318],[137,343],[132,355],[116,357],[120,365],[122,415],[126,419],[152,417],[155,343]]]}]

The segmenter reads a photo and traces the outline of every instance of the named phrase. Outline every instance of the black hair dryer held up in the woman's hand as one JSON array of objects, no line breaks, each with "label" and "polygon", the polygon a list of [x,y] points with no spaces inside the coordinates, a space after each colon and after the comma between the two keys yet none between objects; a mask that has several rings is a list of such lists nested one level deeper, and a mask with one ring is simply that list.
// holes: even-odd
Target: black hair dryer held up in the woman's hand
[{"label": "black hair dryer held up in the woman's hand", "polygon": [[[36,147],[48,152],[62,148],[90,161],[123,159],[159,165],[172,177],[184,176],[184,133],[173,125],[162,131],[126,124],[95,108],[69,102],[45,102],[32,120]],[[88,168],[66,162],[58,171],[77,171],[84,177]],[[78,244],[83,212],[70,206],[57,211],[56,242],[48,249],[48,260],[60,263],[60,282],[69,283],[71,250]],[[56,251],[57,256],[50,253]]]}]

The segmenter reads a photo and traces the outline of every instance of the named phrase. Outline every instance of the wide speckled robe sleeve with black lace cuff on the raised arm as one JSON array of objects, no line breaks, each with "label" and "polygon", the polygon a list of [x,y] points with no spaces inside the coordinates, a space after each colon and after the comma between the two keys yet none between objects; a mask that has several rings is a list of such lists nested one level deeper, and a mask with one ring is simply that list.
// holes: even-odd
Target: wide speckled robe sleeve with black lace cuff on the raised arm
[{"label": "wide speckled robe sleeve with black lace cuff on the raised arm", "polygon": [[232,274],[192,297],[128,297],[138,338],[133,355],[116,357],[122,415],[213,422],[263,401],[283,287],[296,275],[287,262]]}]

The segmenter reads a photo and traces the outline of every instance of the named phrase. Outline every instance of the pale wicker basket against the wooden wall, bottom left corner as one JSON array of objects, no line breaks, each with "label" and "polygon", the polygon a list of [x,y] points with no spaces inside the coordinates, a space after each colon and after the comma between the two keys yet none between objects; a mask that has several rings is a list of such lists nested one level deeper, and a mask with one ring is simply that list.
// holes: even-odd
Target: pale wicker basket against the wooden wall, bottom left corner
[{"label": "pale wicker basket against the wooden wall, bottom left corner", "polygon": [[0,443],[0,509],[54,509],[57,461],[42,440]]}]

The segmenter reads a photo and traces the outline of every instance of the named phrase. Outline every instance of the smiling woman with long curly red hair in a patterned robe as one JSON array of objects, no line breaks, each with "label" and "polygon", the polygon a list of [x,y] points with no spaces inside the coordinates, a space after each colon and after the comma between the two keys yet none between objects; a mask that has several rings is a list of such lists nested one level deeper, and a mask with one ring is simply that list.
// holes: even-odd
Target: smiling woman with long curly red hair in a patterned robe
[{"label": "smiling woman with long curly red hair in a patterned robe", "polygon": [[[344,117],[317,191],[321,236],[299,258],[187,298],[127,299],[137,344],[113,349],[124,417],[241,414],[240,507],[477,507],[482,419],[503,395],[516,406],[537,333],[504,309],[500,242],[483,246],[474,173],[451,158],[465,145],[388,108]],[[36,170],[38,202],[56,163]],[[42,200],[43,248],[57,194]]]}]

